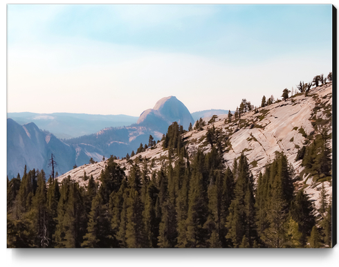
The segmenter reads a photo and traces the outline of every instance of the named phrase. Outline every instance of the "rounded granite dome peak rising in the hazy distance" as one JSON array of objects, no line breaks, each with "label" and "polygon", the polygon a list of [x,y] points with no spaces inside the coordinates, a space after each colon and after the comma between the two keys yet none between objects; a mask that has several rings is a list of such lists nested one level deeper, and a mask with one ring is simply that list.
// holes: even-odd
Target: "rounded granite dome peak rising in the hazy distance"
[{"label": "rounded granite dome peak rising in the hazy distance", "polygon": [[141,113],[137,124],[156,125],[159,131],[167,131],[167,127],[172,122],[178,122],[179,125],[183,125],[184,129],[188,129],[190,123],[194,124],[190,111],[175,96],[158,100],[153,109],[147,109]]}]

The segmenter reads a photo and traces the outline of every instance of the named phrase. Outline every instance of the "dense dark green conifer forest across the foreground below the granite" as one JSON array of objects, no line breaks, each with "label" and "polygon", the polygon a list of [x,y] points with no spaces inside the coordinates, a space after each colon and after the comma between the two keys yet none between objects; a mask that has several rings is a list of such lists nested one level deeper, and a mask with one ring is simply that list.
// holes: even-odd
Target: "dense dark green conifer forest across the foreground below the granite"
[{"label": "dense dark green conifer forest across the foreground below the granite", "polygon": [[[215,129],[207,140],[208,153],[188,156],[174,122],[163,137],[168,156],[160,169],[128,157],[125,174],[111,156],[98,181],[84,174],[86,186],[25,169],[7,181],[8,248],[331,247],[324,187],[316,215],[309,196],[295,190],[284,153],[275,153],[255,183],[244,153],[225,167]],[[323,131],[298,151],[302,165],[322,176],[331,171],[327,142]]]}]

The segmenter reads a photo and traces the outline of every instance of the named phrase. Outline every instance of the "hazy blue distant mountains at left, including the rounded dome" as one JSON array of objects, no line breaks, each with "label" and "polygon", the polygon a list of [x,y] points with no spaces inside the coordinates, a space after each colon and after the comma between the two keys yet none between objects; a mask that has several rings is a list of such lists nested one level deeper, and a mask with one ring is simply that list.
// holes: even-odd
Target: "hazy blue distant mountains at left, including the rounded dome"
[{"label": "hazy blue distant mountains at left, including the rounded dome", "polygon": [[[57,129],[59,124],[67,125],[70,121],[74,121],[74,123],[69,126],[76,128],[84,124],[84,120],[89,122],[91,119],[91,123],[88,124],[93,125],[95,118],[109,118],[109,116],[91,116],[89,114],[71,114],[70,116],[69,113],[21,113],[17,115],[21,115],[18,118],[24,118],[24,120],[33,118],[35,122],[46,121],[47,123],[44,125],[50,127],[48,131],[54,129],[53,127]],[[9,116],[15,117],[13,113],[8,113]],[[62,116],[67,118],[66,122],[58,122]],[[77,116],[77,120],[82,121],[75,120],[75,116]],[[71,119],[69,119],[70,117]],[[185,129],[188,129],[190,123],[194,124],[190,111],[174,96],[162,98],[156,102],[154,109],[147,109],[141,113],[138,120],[134,120],[136,123],[127,127],[102,127],[95,133],[63,141],[55,137],[54,133],[40,130],[35,122],[19,125],[12,118],[8,118],[8,178],[17,176],[18,172],[22,174],[25,165],[27,165],[27,169],[43,168],[45,171],[49,171],[47,165],[51,153],[55,155],[55,160],[58,163],[56,171],[59,174],[69,171],[74,165],[88,164],[90,158],[100,162],[103,157],[108,158],[111,155],[125,157],[132,150],[136,151],[140,143],[148,144],[150,135],[154,140],[160,140],[174,121],[183,125]]]}]

